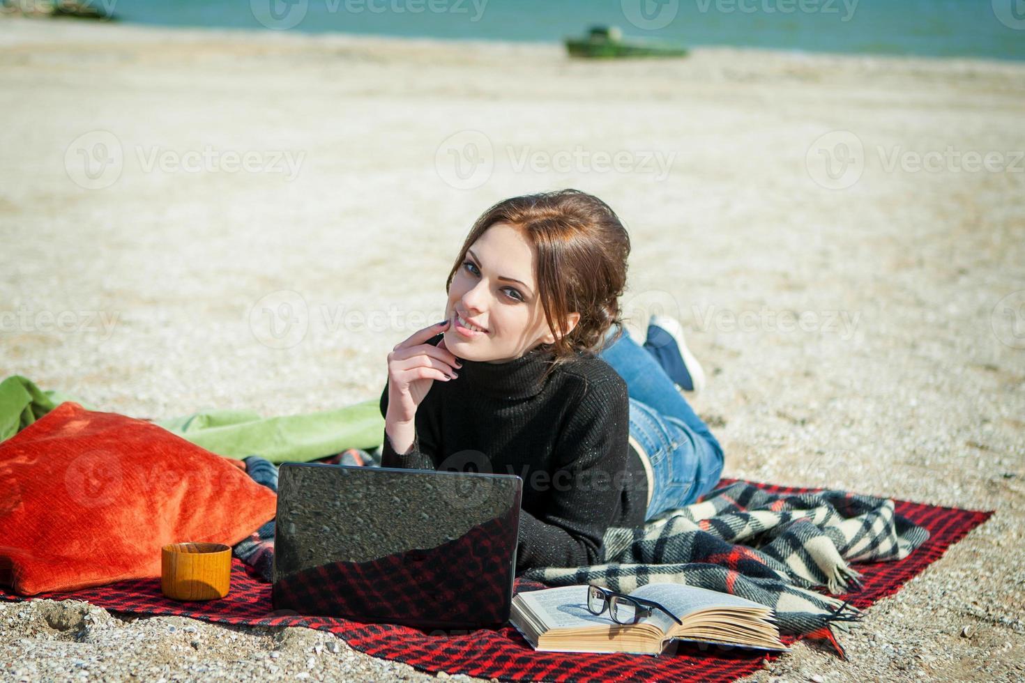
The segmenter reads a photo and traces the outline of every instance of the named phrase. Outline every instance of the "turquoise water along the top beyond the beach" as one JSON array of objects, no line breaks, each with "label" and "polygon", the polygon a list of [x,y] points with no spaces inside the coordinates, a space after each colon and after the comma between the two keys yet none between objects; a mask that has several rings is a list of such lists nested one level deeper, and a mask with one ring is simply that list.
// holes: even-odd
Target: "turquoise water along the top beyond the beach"
[{"label": "turquoise water along the top beyond the beach", "polygon": [[687,46],[1025,59],[1025,0],[93,2],[114,2],[124,22],[162,26],[551,42],[608,24]]}]

